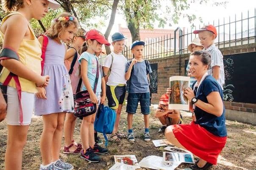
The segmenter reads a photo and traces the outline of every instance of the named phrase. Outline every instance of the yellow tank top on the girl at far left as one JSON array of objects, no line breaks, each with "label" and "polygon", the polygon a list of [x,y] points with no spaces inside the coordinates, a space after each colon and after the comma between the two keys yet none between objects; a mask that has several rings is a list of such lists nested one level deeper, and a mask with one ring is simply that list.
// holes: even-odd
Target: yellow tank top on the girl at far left
[{"label": "yellow tank top on the girl at far left", "polygon": [[[14,13],[10,13],[8,16],[6,16],[3,21],[5,22],[5,20],[14,14],[19,14],[22,15],[19,12],[14,12]],[[23,15],[22,15],[23,16]],[[32,28],[30,27],[29,23],[28,23],[28,28],[31,31],[32,35],[33,35],[33,40],[26,40],[23,39],[20,43],[19,49],[17,51],[18,55],[19,55],[19,61],[22,62],[22,64],[24,64],[26,67],[28,67],[31,71],[34,71],[37,74],[41,74],[41,54],[42,54],[42,50],[41,50],[41,44],[39,43],[39,41],[36,38],[36,35],[34,34]],[[3,32],[0,30],[0,35],[1,38],[3,40],[4,34]],[[9,70],[7,70],[5,67],[3,68],[1,77],[0,77],[0,82],[3,83],[8,74],[10,73]],[[25,78],[21,78],[19,77],[19,82],[20,82],[20,86],[21,86],[21,91],[23,92],[30,92],[30,93],[36,93],[36,84],[32,81],[29,81]],[[14,87],[15,86],[15,81],[12,78],[10,83],[8,84],[8,86]]]}]

